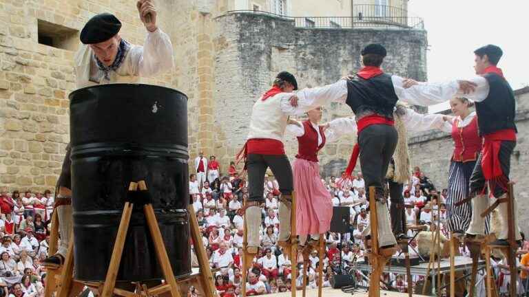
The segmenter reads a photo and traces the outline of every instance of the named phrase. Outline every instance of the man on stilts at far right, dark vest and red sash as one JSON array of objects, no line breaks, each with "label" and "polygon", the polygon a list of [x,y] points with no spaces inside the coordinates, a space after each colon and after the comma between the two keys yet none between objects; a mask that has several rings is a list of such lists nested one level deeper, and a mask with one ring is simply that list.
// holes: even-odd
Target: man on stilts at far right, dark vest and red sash
[{"label": "man on stilts at far right, dark vest and red sash", "polygon": [[[481,236],[485,233],[485,220],[481,213],[488,207],[488,193],[497,199],[506,197],[510,172],[510,156],[516,146],[515,125],[515,95],[504,78],[497,63],[503,52],[496,45],[485,45],[475,50],[475,78],[463,82],[467,90],[472,90],[465,97],[476,104],[479,135],[484,137],[484,146],[477,160],[473,174],[470,177],[470,195],[473,199],[472,221],[466,230],[467,236]],[[452,80],[448,83],[429,84],[417,83],[414,80],[404,81],[404,88],[410,94],[413,104],[429,105],[450,100],[461,96],[458,83]],[[409,88],[409,89],[407,89]],[[501,230],[496,237],[495,245],[508,245],[508,211],[507,203],[498,206],[500,218],[503,221]],[[517,223],[515,202],[516,240],[521,239]]]}]

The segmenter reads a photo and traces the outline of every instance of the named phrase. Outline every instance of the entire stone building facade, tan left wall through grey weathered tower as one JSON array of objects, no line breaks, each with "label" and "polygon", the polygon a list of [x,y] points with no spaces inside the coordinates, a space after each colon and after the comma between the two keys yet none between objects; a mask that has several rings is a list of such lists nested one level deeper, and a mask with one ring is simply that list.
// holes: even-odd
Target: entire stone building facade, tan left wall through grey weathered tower
[{"label": "entire stone building facade, tan left wall through grey weathered tower", "polygon": [[[388,47],[386,71],[426,79],[422,29],[298,28],[293,19],[228,13],[234,0],[158,0],[158,25],[174,45],[172,72],[143,83],[187,94],[189,152],[217,155],[225,170],[247,135],[253,102],[281,70],[300,87],[333,83],[360,67],[360,49]],[[79,31],[94,14],[121,19],[121,36],[143,44],[145,28],[136,1],[0,0],[0,186],[8,190],[52,188],[69,142],[68,94],[75,89],[72,60]],[[348,115],[340,104],[324,120]],[[321,159],[337,173],[353,135],[329,144]],[[294,155],[295,143],[287,151]]]}]

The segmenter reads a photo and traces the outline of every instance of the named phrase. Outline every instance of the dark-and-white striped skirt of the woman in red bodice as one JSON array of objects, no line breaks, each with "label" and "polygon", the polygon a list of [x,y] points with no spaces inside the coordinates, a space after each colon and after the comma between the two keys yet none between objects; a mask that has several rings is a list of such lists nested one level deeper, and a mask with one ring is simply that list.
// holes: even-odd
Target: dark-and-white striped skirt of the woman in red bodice
[{"label": "dark-and-white striped skirt of the woman in red bodice", "polygon": [[[455,203],[465,199],[470,194],[470,175],[476,166],[475,161],[450,162],[448,171],[448,195],[446,197],[446,221],[449,231],[465,232],[472,218],[472,204],[464,203],[455,206]],[[485,230],[489,230],[489,217],[486,218]]]}]

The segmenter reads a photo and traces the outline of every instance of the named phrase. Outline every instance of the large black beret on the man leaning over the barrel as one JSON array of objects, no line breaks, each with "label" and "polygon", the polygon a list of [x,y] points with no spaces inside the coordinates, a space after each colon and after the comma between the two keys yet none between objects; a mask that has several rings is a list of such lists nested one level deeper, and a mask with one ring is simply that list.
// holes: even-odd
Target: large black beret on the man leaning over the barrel
[{"label": "large black beret on the man leaning over the barrel", "polygon": [[108,12],[96,14],[88,20],[81,30],[81,42],[84,44],[101,43],[111,39],[121,29],[121,21]]}]

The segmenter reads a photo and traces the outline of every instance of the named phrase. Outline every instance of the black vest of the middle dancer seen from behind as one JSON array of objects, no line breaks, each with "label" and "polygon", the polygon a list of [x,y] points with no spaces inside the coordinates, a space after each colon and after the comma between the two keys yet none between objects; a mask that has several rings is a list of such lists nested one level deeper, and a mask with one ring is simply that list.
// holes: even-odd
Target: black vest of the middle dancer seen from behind
[{"label": "black vest of the middle dancer seen from behind", "polygon": [[393,108],[398,100],[389,74],[381,74],[369,80],[360,76],[347,80],[346,104],[355,114],[371,112],[393,118]]}]

